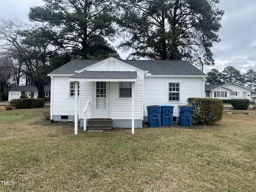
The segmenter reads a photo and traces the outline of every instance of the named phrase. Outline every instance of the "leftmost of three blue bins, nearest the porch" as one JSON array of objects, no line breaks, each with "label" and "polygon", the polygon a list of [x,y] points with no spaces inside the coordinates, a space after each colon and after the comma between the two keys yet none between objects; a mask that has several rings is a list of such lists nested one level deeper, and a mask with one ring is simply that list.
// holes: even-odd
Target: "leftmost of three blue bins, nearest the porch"
[{"label": "leftmost of three blue bins, nearest the porch", "polygon": [[161,106],[147,106],[148,109],[148,126],[161,127]]}]

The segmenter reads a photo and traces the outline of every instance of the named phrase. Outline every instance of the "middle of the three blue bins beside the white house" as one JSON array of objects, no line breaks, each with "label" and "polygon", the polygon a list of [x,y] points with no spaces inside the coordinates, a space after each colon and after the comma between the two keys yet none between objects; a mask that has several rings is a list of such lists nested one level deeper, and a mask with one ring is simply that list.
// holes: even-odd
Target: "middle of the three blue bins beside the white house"
[{"label": "middle of the three blue bins beside the white house", "polygon": [[173,105],[161,105],[161,124],[162,126],[172,126]]}]

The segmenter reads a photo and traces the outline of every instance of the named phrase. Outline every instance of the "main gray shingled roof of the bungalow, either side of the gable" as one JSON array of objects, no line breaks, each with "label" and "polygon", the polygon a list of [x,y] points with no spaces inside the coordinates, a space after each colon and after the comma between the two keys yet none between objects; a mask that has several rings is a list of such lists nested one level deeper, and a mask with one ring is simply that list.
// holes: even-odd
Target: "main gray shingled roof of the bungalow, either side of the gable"
[{"label": "main gray shingled roof of the bungalow, either side of the gable", "polygon": [[[72,60],[50,74],[76,74],[74,71],[82,69],[100,60]],[[127,64],[148,71],[152,75],[203,75],[202,71],[183,60],[122,60]]]}]

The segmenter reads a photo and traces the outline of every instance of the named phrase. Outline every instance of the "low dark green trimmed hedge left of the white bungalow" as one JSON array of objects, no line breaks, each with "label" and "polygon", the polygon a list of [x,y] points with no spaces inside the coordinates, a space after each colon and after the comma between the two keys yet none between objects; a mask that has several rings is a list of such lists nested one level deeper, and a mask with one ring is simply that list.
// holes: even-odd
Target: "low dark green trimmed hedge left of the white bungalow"
[{"label": "low dark green trimmed hedge left of the white bungalow", "polygon": [[44,99],[12,99],[10,105],[16,109],[41,108],[44,107]]}]

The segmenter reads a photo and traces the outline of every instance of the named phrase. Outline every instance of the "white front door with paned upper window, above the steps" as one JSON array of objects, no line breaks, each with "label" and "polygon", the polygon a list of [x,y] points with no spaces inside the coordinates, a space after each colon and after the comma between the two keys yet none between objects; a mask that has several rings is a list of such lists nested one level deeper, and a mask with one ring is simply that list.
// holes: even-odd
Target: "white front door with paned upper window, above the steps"
[{"label": "white front door with paned upper window, above the steps", "polygon": [[109,82],[94,82],[93,89],[93,118],[109,118]]}]

